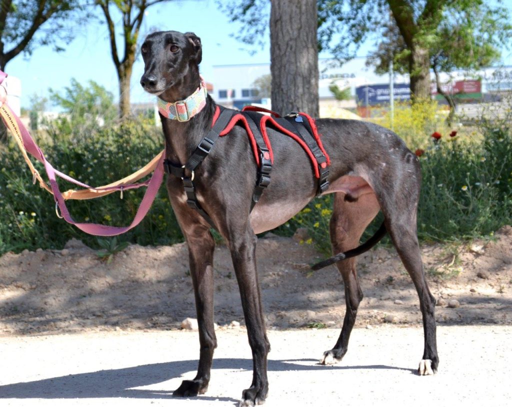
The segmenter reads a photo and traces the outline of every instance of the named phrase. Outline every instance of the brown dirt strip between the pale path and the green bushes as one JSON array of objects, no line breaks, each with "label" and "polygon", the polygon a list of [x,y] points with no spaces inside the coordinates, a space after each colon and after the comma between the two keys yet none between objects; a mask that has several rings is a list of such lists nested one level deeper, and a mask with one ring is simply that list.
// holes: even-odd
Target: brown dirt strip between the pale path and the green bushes
[{"label": "brown dirt strip between the pale path and the green bushes", "polygon": [[[511,226],[488,241],[423,246],[422,255],[440,324],[512,324]],[[260,238],[257,257],[269,329],[341,326],[342,279],[334,266],[310,272],[309,264],[321,259],[311,246],[269,234]],[[216,248],[214,268],[219,329],[232,329],[233,320],[243,329],[223,245]],[[416,291],[393,249],[361,255],[358,270],[365,298],[356,327],[421,323]],[[129,246],[110,264],[76,240],[63,250],[0,258],[1,336],[179,329],[187,317],[195,317],[195,306],[185,244]]]}]

